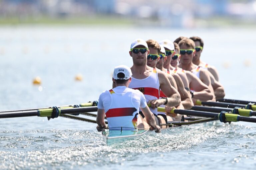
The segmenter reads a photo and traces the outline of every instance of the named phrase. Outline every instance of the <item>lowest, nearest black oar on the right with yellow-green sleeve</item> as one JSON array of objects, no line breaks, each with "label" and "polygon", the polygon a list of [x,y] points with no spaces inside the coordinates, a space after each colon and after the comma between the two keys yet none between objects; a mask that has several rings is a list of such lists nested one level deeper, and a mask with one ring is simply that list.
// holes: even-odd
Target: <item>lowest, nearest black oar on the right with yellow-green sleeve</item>
[{"label": "lowest, nearest black oar on the right with yellow-green sleeve", "polygon": [[[157,108],[159,112],[165,112],[165,108]],[[219,119],[220,122],[252,122],[256,123],[256,118],[252,117],[244,117],[232,113],[221,112],[221,113],[212,113],[212,112],[200,112],[200,111],[192,111],[192,110],[181,110],[181,109],[173,109],[170,113],[180,114],[180,115],[191,115],[191,116],[201,116],[206,118],[215,118]]]}]

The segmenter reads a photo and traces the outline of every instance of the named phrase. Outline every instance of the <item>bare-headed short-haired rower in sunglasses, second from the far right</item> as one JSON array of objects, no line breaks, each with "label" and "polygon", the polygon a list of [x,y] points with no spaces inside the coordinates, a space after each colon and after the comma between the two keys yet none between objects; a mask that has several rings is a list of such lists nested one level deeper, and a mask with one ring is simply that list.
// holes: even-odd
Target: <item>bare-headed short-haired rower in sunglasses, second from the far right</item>
[{"label": "bare-headed short-haired rower in sunglasses, second from the far right", "polygon": [[192,59],[193,56],[195,55],[195,43],[193,42],[193,40],[182,39],[179,42],[179,47],[181,58],[178,67],[192,72],[205,85],[207,85],[210,88],[211,93],[214,95],[212,101],[215,101],[215,98],[223,98],[225,95],[223,86],[214,79],[214,77],[208,70],[193,64]]}]

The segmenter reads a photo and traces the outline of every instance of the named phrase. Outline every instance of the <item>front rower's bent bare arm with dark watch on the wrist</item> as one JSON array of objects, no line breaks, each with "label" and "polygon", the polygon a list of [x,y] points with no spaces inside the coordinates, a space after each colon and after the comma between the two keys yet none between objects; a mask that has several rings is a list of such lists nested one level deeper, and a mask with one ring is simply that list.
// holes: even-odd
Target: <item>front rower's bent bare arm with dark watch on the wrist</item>
[{"label": "front rower's bent bare arm with dark watch on the wrist", "polygon": [[[180,94],[179,92],[171,85],[169,79],[167,78],[166,74],[163,72],[158,72],[158,80],[160,84],[160,89],[162,92],[167,96],[168,98],[168,103],[166,106],[172,107],[172,106],[177,106],[180,104],[181,99],[180,99]],[[159,99],[162,100],[164,104],[165,99]],[[161,104],[161,105],[162,105]]]}]

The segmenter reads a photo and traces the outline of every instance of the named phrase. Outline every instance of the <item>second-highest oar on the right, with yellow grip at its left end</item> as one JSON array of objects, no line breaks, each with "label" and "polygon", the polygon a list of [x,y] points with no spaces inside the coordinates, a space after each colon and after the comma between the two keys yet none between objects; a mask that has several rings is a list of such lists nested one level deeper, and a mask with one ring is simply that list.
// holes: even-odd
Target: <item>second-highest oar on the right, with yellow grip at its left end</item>
[{"label": "second-highest oar on the right, with yellow grip at its left end", "polygon": [[201,101],[196,101],[196,105],[199,105],[199,106],[200,105],[215,106],[215,107],[222,107],[222,108],[240,107],[240,108],[245,108],[245,109],[250,109],[250,110],[256,111],[256,105],[255,104],[242,105],[242,104],[222,103],[222,102],[201,102]]}]

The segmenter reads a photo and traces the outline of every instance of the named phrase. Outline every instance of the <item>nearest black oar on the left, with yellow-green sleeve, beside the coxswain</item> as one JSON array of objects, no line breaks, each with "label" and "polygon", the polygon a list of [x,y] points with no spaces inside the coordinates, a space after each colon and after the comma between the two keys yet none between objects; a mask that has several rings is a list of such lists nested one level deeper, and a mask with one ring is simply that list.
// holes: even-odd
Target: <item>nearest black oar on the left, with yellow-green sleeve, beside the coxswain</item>
[{"label": "nearest black oar on the left, with yellow-green sleeve, beside the coxswain", "polygon": [[68,109],[60,109],[58,107],[52,107],[47,109],[39,109],[35,111],[0,113],[0,118],[39,116],[39,117],[48,117],[50,119],[50,118],[57,118],[60,114],[78,114],[82,112],[96,112],[97,110],[98,110],[97,106],[82,107],[82,108],[68,108]]}]

